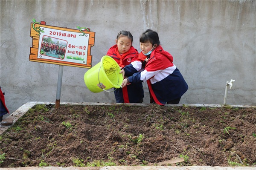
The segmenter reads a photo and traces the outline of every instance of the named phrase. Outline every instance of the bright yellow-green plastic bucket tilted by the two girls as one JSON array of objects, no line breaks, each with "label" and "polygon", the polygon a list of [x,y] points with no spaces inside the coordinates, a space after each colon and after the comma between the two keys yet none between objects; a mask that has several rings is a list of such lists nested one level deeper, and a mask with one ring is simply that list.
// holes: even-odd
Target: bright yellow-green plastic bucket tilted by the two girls
[{"label": "bright yellow-green plastic bucket tilted by the two girls", "polygon": [[122,87],[123,77],[120,71],[120,66],[116,61],[105,55],[99,63],[85,72],[84,83],[91,92],[109,92],[107,89]]}]

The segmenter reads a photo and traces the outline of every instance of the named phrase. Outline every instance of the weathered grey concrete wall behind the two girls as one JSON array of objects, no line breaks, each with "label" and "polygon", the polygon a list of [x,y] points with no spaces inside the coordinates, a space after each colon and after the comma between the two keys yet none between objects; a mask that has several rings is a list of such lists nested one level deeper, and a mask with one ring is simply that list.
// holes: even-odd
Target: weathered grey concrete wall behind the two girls
[{"label": "weathered grey concrete wall behind the two girls", "polygon": [[[223,104],[234,79],[227,104],[256,105],[256,0],[0,0],[0,8],[0,86],[10,112],[56,99],[59,66],[29,61],[33,18],[96,32],[93,66],[119,31],[129,30],[140,52],[140,34],[153,29],[189,85],[180,104]],[[61,102],[115,102],[113,93],[87,89],[87,70],[64,66]]]}]

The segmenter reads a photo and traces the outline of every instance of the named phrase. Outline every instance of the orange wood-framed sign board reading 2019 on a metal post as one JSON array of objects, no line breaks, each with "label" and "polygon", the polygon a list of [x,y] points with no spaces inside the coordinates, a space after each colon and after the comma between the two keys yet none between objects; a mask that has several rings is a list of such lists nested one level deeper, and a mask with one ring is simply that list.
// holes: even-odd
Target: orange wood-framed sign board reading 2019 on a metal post
[{"label": "orange wood-framed sign board reading 2019 on a metal post", "polygon": [[29,61],[91,68],[90,50],[94,45],[95,32],[79,26],[78,29],[68,29],[33,21]]}]

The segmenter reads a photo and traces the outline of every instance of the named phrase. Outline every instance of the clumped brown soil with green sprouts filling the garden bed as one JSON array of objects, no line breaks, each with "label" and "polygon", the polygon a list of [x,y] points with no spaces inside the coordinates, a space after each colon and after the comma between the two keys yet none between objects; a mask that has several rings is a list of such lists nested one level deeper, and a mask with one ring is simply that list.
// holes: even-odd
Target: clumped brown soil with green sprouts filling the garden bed
[{"label": "clumped brown soil with green sprouts filling the garden bed", "polygon": [[[36,105],[0,137],[0,167],[256,166],[256,107]],[[167,164],[170,165],[170,164]]]}]

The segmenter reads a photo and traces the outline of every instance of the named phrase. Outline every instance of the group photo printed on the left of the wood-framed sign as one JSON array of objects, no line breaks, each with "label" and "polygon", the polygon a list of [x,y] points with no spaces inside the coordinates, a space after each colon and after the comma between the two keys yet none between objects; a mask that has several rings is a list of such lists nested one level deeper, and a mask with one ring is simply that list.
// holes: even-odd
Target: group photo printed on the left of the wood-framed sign
[{"label": "group photo printed on the left of the wood-framed sign", "polygon": [[48,57],[64,59],[67,41],[44,35],[41,42],[40,54]]}]

